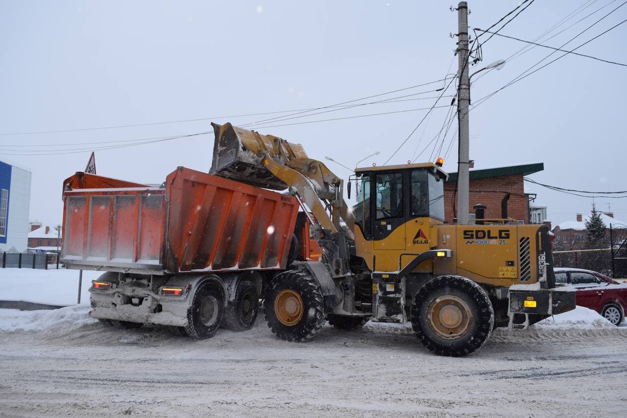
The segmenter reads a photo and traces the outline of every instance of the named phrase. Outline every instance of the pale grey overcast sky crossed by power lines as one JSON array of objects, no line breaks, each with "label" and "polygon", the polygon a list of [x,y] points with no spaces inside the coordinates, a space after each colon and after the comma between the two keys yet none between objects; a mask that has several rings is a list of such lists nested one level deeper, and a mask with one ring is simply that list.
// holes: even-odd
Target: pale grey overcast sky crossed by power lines
[{"label": "pale grey overcast sky crossed by power lines", "polygon": [[[559,47],[621,3],[535,0],[500,33],[533,40],[579,11],[540,38]],[[517,4],[518,0],[470,1],[469,25],[487,29]],[[576,23],[599,8],[603,9]],[[584,43],[626,16],[627,5],[564,48]],[[562,29],[566,30],[557,34]],[[448,36],[456,31],[457,13],[441,1],[3,1],[0,133],[206,120],[2,135],[0,159],[31,169],[30,217],[49,225],[61,222],[63,179],[84,170],[95,147],[206,132],[211,121],[256,122],[250,126],[302,144],[312,158],[329,156],[349,167],[380,151],[362,165],[381,165],[426,114],[413,109],[431,107],[440,95],[415,93],[441,88],[444,82],[353,103],[390,98],[394,102],[258,121],[440,80],[457,69],[456,38]],[[627,63],[626,36],[623,24],[577,52]],[[482,48],[483,61],[470,71],[508,58],[523,46],[494,36]],[[537,47],[514,56],[500,71],[475,76],[473,103],[551,52]],[[500,91],[470,112],[470,158],[475,168],[544,162],[544,171],[530,176],[544,184],[584,191],[627,189],[625,75],[624,66],[567,55]],[[435,137],[445,123],[454,86],[455,82],[438,103],[444,107],[433,111],[389,164],[414,159]],[[406,95],[413,96],[399,98]],[[292,112],[223,118],[287,110]],[[406,110],[411,111],[345,118]],[[344,119],[300,123],[330,118]],[[288,123],[300,124],[274,126]],[[456,122],[440,152],[433,150],[433,142],[418,161],[444,156],[455,138],[445,162],[445,169],[455,172],[455,128]],[[88,144],[59,145],[80,143]],[[54,155],[51,150],[72,154]],[[97,171],[161,183],[178,165],[208,171],[212,150],[213,135],[97,150]],[[345,179],[350,174],[333,162],[327,164]],[[537,185],[528,189],[537,193],[536,204],[548,207],[554,225],[591,209],[591,199]],[[627,219],[625,200],[599,198],[596,203],[604,211],[611,203],[616,217]]]}]

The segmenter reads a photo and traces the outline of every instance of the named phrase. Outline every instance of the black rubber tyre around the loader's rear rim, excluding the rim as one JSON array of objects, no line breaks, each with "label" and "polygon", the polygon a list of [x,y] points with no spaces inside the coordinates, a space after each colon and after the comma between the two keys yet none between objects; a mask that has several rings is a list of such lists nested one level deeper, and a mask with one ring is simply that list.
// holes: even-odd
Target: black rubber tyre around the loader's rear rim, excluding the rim
[{"label": "black rubber tyre around the loader's rear rim, excluding the rim", "polygon": [[[463,291],[477,304],[477,313],[480,317],[478,328],[474,338],[463,347],[446,347],[438,344],[423,332],[419,323],[419,313],[423,301],[426,300],[433,291],[447,287]],[[494,309],[490,297],[481,286],[463,276],[449,275],[430,280],[418,290],[414,302],[411,305],[410,317],[411,327],[414,333],[416,333],[416,337],[418,337],[418,340],[429,351],[447,357],[463,357],[477,352],[490,338],[494,324]]]}]

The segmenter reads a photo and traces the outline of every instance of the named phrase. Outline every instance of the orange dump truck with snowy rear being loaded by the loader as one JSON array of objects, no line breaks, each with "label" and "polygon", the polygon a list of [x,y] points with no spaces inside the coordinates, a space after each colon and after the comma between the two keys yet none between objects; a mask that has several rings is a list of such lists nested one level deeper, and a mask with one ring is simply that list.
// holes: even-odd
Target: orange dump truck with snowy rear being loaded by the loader
[{"label": "orange dump truck with snowy rear being loaded by the loader", "polygon": [[118,327],[250,328],[266,278],[305,249],[294,197],[184,167],[159,187],[79,172],[63,200],[61,262],[106,272],[90,315]]}]

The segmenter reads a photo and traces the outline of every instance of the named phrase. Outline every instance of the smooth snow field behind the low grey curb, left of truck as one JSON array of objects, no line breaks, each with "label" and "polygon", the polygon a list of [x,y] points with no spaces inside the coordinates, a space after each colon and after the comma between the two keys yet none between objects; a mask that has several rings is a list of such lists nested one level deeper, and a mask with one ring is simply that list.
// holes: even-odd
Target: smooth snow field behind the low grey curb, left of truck
[{"label": "smooth snow field behind the low grey curb, left of truck", "polygon": [[[88,289],[101,271],[83,271],[81,303],[89,305]],[[0,300],[24,300],[51,305],[75,305],[78,270],[0,268]]]}]

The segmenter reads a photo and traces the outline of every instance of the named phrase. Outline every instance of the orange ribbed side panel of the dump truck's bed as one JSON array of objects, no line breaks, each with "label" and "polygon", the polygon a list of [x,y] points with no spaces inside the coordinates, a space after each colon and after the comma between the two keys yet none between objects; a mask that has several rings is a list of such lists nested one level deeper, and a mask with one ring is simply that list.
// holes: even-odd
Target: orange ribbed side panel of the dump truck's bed
[{"label": "orange ribbed side panel of the dump truck's bed", "polygon": [[285,268],[298,212],[293,197],[183,167],[166,184],[169,263],[176,264],[169,268]]}]

